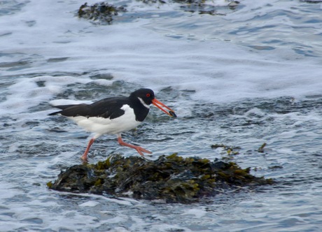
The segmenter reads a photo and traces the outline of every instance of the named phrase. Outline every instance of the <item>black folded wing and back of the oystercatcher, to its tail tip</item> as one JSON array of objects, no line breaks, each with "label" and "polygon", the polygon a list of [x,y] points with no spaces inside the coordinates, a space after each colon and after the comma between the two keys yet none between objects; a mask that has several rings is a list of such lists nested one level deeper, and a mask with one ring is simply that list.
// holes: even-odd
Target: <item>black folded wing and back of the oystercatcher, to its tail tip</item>
[{"label": "black folded wing and back of the oystercatcher, to its tail tip", "polygon": [[122,106],[128,104],[127,98],[108,98],[102,99],[100,101],[94,102],[90,105],[88,104],[78,104],[78,105],[64,105],[55,106],[61,109],[60,111],[50,113],[49,115],[61,114],[66,117],[104,117],[104,118],[116,118],[124,115],[124,110]]}]

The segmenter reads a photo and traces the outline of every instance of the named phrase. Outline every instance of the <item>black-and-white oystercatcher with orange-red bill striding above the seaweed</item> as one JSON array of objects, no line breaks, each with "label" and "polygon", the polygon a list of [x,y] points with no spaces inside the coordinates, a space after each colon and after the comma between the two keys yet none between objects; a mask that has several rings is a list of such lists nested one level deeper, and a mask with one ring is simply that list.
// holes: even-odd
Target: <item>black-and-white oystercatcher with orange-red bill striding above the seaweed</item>
[{"label": "black-and-white oystercatcher with orange-red bill striding above the seaweed", "polygon": [[[116,134],[120,145],[134,148],[144,157],[143,152],[148,154],[152,152],[143,147],[125,143],[122,140],[121,133],[134,129],[141,124],[148,115],[151,104],[167,115],[176,117],[174,110],[155,99],[155,94],[151,89],[138,89],[128,97],[111,97],[92,104],[54,106],[61,110],[49,115],[64,115],[86,131],[94,133],[81,157],[83,161],[87,161],[87,154],[94,140],[105,133]],[[167,108],[169,112],[162,107]]]}]

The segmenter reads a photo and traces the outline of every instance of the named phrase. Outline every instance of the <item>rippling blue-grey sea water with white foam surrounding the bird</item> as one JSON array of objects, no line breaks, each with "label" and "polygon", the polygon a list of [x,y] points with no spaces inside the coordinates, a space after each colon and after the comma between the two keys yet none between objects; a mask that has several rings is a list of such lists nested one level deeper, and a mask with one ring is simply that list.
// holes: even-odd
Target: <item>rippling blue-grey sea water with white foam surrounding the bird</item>
[{"label": "rippling blue-grey sea water with white foam surrounding the bird", "polygon": [[[322,3],[205,1],[126,6],[112,24],[80,19],[79,1],[0,2],[0,231],[321,231]],[[88,5],[96,1],[87,1]],[[274,178],[192,205],[50,191],[80,164],[88,133],[50,103],[89,103],[148,87],[129,143],[230,159]],[[240,147],[228,155],[212,144]],[[258,148],[267,143],[264,152]],[[137,155],[102,136],[90,163]]]}]

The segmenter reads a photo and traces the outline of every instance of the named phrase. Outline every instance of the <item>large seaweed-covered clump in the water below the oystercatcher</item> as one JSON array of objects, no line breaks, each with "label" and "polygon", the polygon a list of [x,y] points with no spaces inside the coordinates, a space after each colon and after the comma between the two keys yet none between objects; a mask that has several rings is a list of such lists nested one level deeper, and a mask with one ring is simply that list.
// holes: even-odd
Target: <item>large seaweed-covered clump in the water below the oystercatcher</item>
[{"label": "large seaweed-covered clump in the water below the oystercatcher", "polygon": [[198,157],[161,156],[155,161],[111,155],[97,164],[71,166],[48,187],[75,193],[130,196],[136,199],[191,203],[223,189],[272,184],[251,175],[250,168]]}]

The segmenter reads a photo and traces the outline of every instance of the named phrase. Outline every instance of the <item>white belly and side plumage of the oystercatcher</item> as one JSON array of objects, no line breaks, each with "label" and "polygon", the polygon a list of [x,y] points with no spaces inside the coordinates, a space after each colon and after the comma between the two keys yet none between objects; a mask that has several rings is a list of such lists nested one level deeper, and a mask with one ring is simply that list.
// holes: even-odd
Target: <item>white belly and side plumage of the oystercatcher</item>
[{"label": "white belly and side plumage of the oystercatcher", "polygon": [[124,105],[121,109],[125,111],[124,115],[113,119],[83,116],[69,117],[69,119],[72,119],[86,131],[96,133],[96,138],[104,133],[117,134],[139,126],[141,122],[135,119],[134,110],[129,105]]}]

